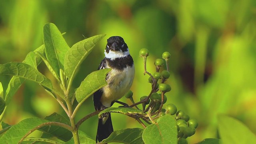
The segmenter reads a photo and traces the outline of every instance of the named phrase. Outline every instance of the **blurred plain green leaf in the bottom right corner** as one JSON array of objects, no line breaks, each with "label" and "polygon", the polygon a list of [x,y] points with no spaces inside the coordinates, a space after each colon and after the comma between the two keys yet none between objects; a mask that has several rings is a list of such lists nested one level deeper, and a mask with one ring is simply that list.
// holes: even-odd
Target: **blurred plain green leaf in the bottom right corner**
[{"label": "blurred plain green leaf in the bottom right corner", "polygon": [[256,136],[249,128],[232,117],[219,115],[218,130],[223,144],[256,144]]}]

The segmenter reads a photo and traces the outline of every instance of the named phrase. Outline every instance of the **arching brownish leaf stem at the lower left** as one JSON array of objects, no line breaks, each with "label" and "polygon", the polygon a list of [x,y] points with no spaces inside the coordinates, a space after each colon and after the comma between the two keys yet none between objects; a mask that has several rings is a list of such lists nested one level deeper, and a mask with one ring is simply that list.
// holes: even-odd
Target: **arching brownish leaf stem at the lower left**
[{"label": "arching brownish leaf stem at the lower left", "polygon": [[20,144],[28,135],[30,135],[32,132],[34,132],[35,130],[38,130],[39,128],[42,128],[43,126],[60,126],[62,128],[66,128],[69,131],[73,131],[72,127],[67,125],[67,124],[63,124],[61,122],[45,122],[40,124],[39,126],[37,126],[36,128],[33,128],[32,130],[30,130],[28,133],[26,133],[21,140],[18,142],[18,144]]}]

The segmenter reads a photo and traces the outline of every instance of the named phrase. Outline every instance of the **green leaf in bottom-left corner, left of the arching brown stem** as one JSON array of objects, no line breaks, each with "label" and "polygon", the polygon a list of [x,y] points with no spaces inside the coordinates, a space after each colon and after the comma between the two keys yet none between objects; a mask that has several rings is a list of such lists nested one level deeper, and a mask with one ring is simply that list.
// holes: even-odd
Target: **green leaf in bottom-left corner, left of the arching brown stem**
[{"label": "green leaf in bottom-left corner, left of the arching brown stem", "polygon": [[6,131],[0,138],[0,142],[2,144],[18,144],[25,134],[44,122],[48,122],[48,120],[43,120],[41,118],[27,118],[22,120]]}]

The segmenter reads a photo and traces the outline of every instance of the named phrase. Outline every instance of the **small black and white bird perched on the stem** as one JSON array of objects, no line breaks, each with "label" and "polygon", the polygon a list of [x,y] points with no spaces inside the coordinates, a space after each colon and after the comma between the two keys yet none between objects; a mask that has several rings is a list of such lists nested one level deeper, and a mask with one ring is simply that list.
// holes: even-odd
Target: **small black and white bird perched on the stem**
[{"label": "small black and white bird perched on the stem", "polygon": [[[104,68],[111,68],[112,70],[106,76],[108,85],[93,94],[95,110],[104,110],[112,106],[130,90],[134,79],[133,59],[122,37],[112,36],[108,38],[104,53],[105,58],[100,63],[98,70]],[[96,142],[108,138],[112,132],[110,113],[105,113],[98,120]]]}]

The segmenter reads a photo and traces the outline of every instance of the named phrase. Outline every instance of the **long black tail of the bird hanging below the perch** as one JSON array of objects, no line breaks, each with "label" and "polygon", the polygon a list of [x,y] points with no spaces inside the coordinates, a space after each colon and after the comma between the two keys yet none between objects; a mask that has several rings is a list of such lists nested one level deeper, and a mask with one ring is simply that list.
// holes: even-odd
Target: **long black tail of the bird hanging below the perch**
[{"label": "long black tail of the bird hanging below the perch", "polygon": [[99,118],[96,142],[101,142],[105,138],[108,138],[108,136],[114,131],[110,114],[108,115],[108,119],[104,124],[102,123],[102,121],[102,118]]}]

